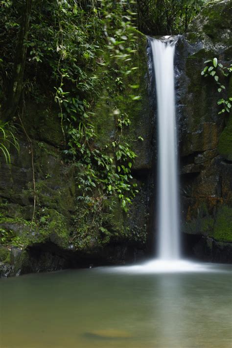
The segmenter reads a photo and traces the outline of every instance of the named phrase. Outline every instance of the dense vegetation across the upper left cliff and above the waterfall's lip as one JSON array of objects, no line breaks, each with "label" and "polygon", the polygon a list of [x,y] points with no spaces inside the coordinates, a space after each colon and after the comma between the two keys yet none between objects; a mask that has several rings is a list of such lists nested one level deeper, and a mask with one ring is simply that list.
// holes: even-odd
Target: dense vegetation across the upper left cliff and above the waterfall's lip
[{"label": "dense vegetation across the upper left cliff and above the waterfall's lip", "polygon": [[[94,206],[91,192],[97,187],[98,205],[99,197],[118,196],[127,211],[136,191],[130,174],[136,154],[122,141],[121,133],[130,120],[115,105],[118,136],[109,147],[116,148],[116,165],[108,146],[94,148],[92,119],[99,86],[114,76],[120,91],[123,77],[137,69],[131,65],[131,55],[137,50],[134,28],[138,25],[143,30],[148,25],[142,23],[147,10],[153,18],[149,32],[173,33],[186,29],[201,4],[185,0],[1,1],[1,130],[5,129],[1,150],[7,161],[6,145],[12,137],[8,122],[23,127],[25,100],[44,103],[52,98],[58,104],[65,158],[81,168],[79,199]],[[138,15],[133,12],[136,10]],[[135,93],[138,87],[131,86],[132,100],[139,99]],[[13,141],[17,146],[16,138]]]}]

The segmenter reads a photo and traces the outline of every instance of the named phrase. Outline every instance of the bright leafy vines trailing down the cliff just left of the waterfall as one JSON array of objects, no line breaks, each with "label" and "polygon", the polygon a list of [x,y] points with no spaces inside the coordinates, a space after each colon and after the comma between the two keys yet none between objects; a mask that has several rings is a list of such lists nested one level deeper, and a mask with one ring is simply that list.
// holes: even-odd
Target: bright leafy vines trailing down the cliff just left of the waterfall
[{"label": "bright leafy vines trailing down the cliff just left of the waterfall", "polygon": [[[101,25],[104,23],[104,35],[107,40],[104,50],[108,49],[110,52],[109,57],[105,54],[99,57],[99,65],[104,66],[106,69],[105,71],[100,69],[101,76],[95,71],[89,80],[91,81],[89,86],[86,80],[85,84],[81,84],[83,86],[81,88],[85,88],[85,92],[90,90],[92,98],[95,97],[95,99],[98,98],[98,94],[95,93],[94,89],[96,86],[99,86],[100,78],[105,78],[106,80],[110,78],[110,67],[113,64],[116,66],[116,69],[114,69],[114,73],[116,73],[115,84],[119,91],[123,88],[124,76],[133,74],[137,69],[137,67],[133,66],[131,69],[128,69],[127,65],[132,60],[131,55],[136,52],[136,36],[131,24],[132,18],[130,17],[134,14],[128,9],[126,14],[124,14],[124,4],[125,1],[122,1],[115,6],[111,1],[102,1],[101,8],[93,11],[94,14],[100,13],[101,19],[99,19],[99,23]],[[89,46],[90,44],[88,44]],[[85,54],[84,56],[86,57],[87,55]],[[92,57],[94,57],[93,50],[88,59]],[[89,62],[89,64],[91,63]],[[93,63],[92,70],[94,71]],[[119,138],[112,143],[113,148],[115,148],[116,159],[112,154],[108,154],[108,150],[112,148],[111,144],[103,149],[94,147],[96,135],[91,119],[97,117],[97,115],[90,111],[90,102],[81,98],[80,94],[77,94],[76,88],[70,91],[63,90],[63,81],[64,78],[69,78],[69,72],[64,69],[62,71],[61,85],[56,89],[55,99],[60,106],[62,126],[63,122],[65,122],[65,133],[68,134],[69,148],[65,150],[65,153],[70,155],[74,161],[78,159],[77,166],[81,168],[77,177],[78,185],[81,189],[81,195],[78,199],[93,208],[95,203],[98,205],[99,197],[113,195],[121,200],[122,208],[127,212],[127,205],[131,203],[131,198],[134,197],[136,192],[133,185],[130,184],[132,179],[130,174],[131,167],[128,167],[127,164],[135,157],[135,153],[129,149],[128,144],[121,144]],[[102,72],[104,73],[103,76]],[[73,81],[70,79],[70,82]],[[135,89],[135,86],[132,86],[132,88]],[[137,96],[131,95],[131,98],[136,100]],[[130,120],[126,115],[121,115],[117,107],[115,107],[114,113],[118,115],[116,125],[122,131],[122,126],[128,125]],[[120,165],[122,166],[121,168],[124,168],[120,174],[116,171],[115,160],[118,162],[117,168],[120,168]],[[97,201],[94,199],[94,190],[98,191]]]}]

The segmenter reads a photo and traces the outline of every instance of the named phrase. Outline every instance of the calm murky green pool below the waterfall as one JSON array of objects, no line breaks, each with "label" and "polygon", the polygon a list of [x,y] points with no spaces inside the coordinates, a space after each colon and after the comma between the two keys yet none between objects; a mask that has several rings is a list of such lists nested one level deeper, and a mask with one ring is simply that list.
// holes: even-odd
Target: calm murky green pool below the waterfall
[{"label": "calm murky green pool below the waterfall", "polygon": [[204,273],[125,269],[1,279],[0,347],[231,347],[228,266]]}]

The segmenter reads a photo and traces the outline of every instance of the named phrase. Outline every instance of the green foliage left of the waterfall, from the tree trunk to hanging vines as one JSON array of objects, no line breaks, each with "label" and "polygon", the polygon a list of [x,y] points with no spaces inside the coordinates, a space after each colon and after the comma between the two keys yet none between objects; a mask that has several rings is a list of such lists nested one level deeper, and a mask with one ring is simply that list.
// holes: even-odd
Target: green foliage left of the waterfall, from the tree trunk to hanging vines
[{"label": "green foliage left of the waterfall, from the tree trunk to hanging vines", "polygon": [[[17,3],[1,1],[2,18],[7,18],[7,21],[0,20],[7,37],[2,52],[2,72],[6,72],[6,75],[1,74],[3,95],[12,75],[13,60],[8,57],[12,57],[17,44],[23,4],[23,0]],[[79,199],[94,201],[93,191],[97,190],[100,196],[119,198],[125,211],[136,192],[130,183],[135,154],[120,138],[122,127],[130,120],[120,113],[117,105],[113,107],[119,110],[115,158],[111,142],[105,148],[95,146],[92,121],[98,115],[94,115],[92,109],[99,98],[102,81],[111,80],[119,93],[124,79],[137,69],[131,64],[137,50],[133,27],[136,14],[131,8],[130,1],[125,0],[33,2],[29,34],[24,42],[27,59],[23,99],[41,103],[44,97],[53,95],[59,109],[66,160],[82,168],[77,177]],[[3,36],[2,39],[5,40]],[[132,92],[137,88],[131,86]],[[131,93],[135,102],[139,98]],[[2,99],[6,98],[3,96]],[[117,173],[117,167],[122,169],[120,173]]]}]

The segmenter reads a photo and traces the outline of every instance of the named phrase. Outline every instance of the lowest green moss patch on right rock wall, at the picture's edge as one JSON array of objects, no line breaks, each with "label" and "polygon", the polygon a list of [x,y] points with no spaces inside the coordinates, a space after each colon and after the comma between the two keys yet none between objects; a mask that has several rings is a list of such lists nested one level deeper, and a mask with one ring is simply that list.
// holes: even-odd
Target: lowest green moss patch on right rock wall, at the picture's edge
[{"label": "lowest green moss patch on right rock wall, at the picture's edge", "polygon": [[232,242],[232,208],[222,205],[216,214],[213,237],[221,242]]}]

